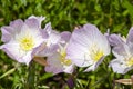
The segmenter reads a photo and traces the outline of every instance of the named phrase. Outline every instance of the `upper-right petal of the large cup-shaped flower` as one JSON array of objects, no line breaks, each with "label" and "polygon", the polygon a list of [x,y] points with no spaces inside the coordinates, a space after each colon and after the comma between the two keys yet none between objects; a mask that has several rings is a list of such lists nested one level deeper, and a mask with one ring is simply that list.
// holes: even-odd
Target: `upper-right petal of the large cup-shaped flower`
[{"label": "upper-right petal of the large cup-shaped flower", "polygon": [[[88,33],[88,39],[90,39],[91,43],[96,43],[96,46],[103,50],[104,55],[110,53],[110,44],[104,34],[102,34],[99,29],[93,24],[84,24],[84,30]],[[98,43],[99,42],[99,43]],[[92,44],[90,44],[92,46]]]}]

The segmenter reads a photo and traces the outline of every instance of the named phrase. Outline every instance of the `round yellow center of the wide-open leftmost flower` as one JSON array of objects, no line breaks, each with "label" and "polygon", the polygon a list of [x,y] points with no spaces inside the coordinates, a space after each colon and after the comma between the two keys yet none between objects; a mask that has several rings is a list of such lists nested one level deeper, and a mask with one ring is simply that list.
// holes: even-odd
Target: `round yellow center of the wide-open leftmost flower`
[{"label": "round yellow center of the wide-open leftmost flower", "polygon": [[22,48],[22,50],[24,51],[29,51],[33,48],[34,42],[32,37],[24,37],[20,40],[20,47]]}]

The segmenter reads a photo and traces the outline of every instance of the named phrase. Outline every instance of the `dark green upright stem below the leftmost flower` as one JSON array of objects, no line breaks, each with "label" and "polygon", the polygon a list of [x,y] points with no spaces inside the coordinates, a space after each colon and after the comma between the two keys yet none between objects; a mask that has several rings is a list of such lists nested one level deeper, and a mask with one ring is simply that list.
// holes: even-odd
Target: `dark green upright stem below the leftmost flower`
[{"label": "dark green upright stem below the leftmost flower", "polygon": [[27,88],[28,89],[34,89],[34,76],[35,76],[34,68],[35,68],[34,62],[31,61],[29,65],[28,80],[27,80]]}]

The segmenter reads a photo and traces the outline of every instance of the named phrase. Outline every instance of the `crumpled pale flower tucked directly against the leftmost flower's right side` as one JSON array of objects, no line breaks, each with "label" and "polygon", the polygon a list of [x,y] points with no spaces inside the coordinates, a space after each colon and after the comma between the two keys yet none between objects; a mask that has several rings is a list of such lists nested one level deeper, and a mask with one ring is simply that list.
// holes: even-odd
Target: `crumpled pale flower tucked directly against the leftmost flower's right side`
[{"label": "crumpled pale flower tucked directly against the leftmost flower's right side", "polygon": [[61,40],[61,36],[58,31],[52,30],[51,23],[45,24],[43,29],[43,36],[45,36],[45,41],[40,44],[40,47],[35,48],[37,57],[48,57],[53,55],[58,49],[58,43]]}]

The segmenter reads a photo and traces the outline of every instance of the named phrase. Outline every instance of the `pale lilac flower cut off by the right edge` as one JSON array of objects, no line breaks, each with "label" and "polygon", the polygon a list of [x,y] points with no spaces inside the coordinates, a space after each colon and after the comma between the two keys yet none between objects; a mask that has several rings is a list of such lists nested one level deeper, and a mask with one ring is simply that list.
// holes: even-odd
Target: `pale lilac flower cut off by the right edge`
[{"label": "pale lilac flower cut off by the right edge", "polygon": [[112,52],[116,57],[110,62],[114,72],[126,73],[133,69],[133,28],[130,29],[127,38],[120,34],[111,34],[109,41],[113,47]]}]

